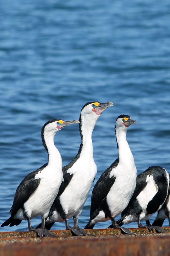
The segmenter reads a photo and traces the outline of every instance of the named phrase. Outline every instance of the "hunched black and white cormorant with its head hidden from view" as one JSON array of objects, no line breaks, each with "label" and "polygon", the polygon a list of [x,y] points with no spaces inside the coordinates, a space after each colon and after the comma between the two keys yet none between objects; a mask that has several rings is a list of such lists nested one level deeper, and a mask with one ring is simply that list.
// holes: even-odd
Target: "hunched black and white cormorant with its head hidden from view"
[{"label": "hunched black and white cormorant with its head hidden from view", "polygon": [[[150,218],[164,204],[169,186],[169,175],[160,166],[151,166],[137,176],[134,194],[121,213],[122,218],[118,224],[124,225],[130,222],[137,222],[138,228],[155,229],[158,233],[165,232],[161,227],[151,226]],[[146,226],[141,224],[146,221]],[[112,228],[112,225],[109,226]]]}]

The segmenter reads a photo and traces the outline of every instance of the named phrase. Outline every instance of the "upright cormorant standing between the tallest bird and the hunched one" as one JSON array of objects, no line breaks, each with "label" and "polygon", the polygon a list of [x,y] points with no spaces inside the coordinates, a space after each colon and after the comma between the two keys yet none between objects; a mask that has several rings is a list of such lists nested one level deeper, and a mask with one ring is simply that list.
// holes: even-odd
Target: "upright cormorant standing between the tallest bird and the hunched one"
[{"label": "upright cormorant standing between the tallest bird and the hunched one", "polygon": [[97,222],[112,221],[114,228],[120,228],[124,234],[135,234],[128,228],[120,227],[115,221],[128,205],[136,185],[137,170],[134,158],[126,140],[131,124],[136,124],[128,115],[116,119],[115,133],[119,158],[100,176],[91,196],[90,220],[85,229],[93,228]]}]

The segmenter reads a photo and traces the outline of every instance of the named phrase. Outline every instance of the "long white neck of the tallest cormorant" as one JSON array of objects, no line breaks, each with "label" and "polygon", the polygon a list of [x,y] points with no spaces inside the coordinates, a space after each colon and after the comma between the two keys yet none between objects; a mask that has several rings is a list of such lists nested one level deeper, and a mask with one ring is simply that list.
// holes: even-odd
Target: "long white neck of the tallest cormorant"
[{"label": "long white neck of the tallest cormorant", "polygon": [[93,158],[93,143],[92,132],[97,122],[97,119],[88,118],[88,116],[81,116],[81,154],[80,157]]}]

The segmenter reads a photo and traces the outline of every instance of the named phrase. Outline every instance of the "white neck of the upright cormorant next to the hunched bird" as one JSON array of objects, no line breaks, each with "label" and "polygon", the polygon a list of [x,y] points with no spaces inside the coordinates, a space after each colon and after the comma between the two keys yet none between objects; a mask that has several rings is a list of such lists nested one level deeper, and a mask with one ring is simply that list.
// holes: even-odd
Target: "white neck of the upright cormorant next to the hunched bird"
[{"label": "white neck of the upright cormorant next to the hunched bird", "polygon": [[[127,129],[119,127],[116,129],[116,140],[118,143],[119,163],[133,164],[134,158],[126,140]],[[135,164],[135,163],[134,163]]]}]

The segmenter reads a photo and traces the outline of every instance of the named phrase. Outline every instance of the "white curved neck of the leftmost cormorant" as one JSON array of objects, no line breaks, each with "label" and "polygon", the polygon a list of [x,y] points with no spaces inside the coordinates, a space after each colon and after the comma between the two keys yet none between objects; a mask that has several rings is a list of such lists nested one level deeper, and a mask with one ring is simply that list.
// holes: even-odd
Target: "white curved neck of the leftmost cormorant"
[{"label": "white curved neck of the leftmost cormorant", "polygon": [[49,155],[48,165],[51,165],[51,164],[56,166],[61,165],[62,167],[61,155],[54,144],[54,136],[55,136],[55,133],[44,132],[43,145],[45,144],[44,145],[45,149]]}]

